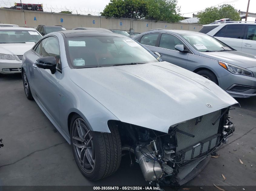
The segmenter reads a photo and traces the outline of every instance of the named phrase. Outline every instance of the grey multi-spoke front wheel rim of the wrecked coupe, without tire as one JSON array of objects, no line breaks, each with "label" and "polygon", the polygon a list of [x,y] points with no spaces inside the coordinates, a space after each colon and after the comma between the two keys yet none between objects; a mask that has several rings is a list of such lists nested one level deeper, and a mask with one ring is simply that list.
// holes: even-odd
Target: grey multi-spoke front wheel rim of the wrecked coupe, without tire
[{"label": "grey multi-spoke front wheel rim of the wrecked coupe, without tire", "polygon": [[75,157],[80,167],[86,173],[91,173],[95,167],[95,149],[92,134],[85,121],[78,118],[73,123],[72,141]]}]

